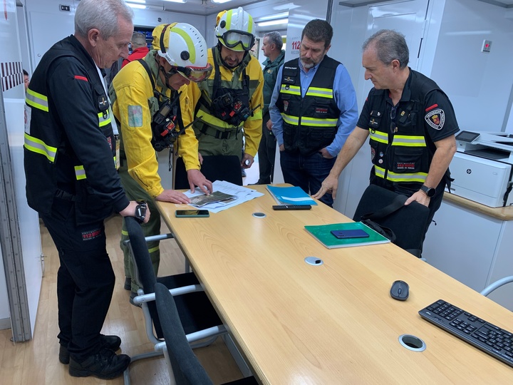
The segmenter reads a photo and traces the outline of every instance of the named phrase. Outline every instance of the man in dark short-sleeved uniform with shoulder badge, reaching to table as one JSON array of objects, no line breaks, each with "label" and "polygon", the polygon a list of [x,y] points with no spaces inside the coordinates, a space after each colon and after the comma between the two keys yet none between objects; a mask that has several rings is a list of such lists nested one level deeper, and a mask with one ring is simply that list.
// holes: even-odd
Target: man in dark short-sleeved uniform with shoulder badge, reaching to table
[{"label": "man in dark short-sleeved uniform with shoulder badge, reaching to table", "polygon": [[409,68],[408,58],[405,38],[396,31],[378,31],[363,44],[365,76],[374,88],[356,130],[314,197],[330,192],[336,196],[338,176],[370,135],[371,183],[408,195],[405,205],[416,200],[429,207],[427,232],[450,185],[449,164],[459,128],[447,95]]}]

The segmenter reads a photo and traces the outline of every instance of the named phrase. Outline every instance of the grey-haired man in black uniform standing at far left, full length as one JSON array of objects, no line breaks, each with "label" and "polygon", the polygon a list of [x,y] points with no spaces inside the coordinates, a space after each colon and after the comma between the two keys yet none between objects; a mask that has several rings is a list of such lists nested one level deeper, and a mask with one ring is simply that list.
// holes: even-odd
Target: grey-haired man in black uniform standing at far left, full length
[{"label": "grey-haired man in black uniform standing at far left, full length", "polygon": [[115,276],[103,220],[113,212],[147,222],[142,202],[130,202],[116,172],[114,118],[100,68],[128,56],[133,11],[123,0],[82,0],[75,34],[41,58],[26,104],[24,165],[28,205],[55,242],[59,360],[71,376],[112,379],[130,364],[115,354],[117,336],[100,334]]}]

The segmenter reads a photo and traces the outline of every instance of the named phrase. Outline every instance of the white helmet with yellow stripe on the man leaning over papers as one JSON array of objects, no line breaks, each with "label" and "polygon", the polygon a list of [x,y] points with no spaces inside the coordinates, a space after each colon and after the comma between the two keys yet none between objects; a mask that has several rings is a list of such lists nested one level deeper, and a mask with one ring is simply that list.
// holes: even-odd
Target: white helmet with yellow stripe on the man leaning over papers
[{"label": "white helmet with yellow stripe on the man leaning over papers", "polygon": [[212,66],[207,61],[207,43],[190,24],[164,26],[158,54],[190,81],[203,81],[212,73]]}]

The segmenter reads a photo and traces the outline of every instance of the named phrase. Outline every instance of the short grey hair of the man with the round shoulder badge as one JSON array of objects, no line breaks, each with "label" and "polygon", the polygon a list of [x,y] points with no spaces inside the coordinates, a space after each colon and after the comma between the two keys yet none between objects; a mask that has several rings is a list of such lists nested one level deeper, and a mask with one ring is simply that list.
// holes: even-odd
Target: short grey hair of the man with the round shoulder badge
[{"label": "short grey hair of the man with the round shoulder badge", "polygon": [[410,51],[403,34],[392,29],[381,29],[363,43],[363,51],[375,48],[378,60],[390,64],[393,60],[399,61],[400,68],[408,66]]}]

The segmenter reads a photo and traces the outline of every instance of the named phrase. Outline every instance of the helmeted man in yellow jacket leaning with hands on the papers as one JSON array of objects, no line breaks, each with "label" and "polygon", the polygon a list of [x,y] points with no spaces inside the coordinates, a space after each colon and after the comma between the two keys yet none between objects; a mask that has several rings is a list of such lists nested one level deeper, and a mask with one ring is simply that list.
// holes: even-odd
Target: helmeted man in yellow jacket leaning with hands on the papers
[{"label": "helmeted man in yellow jacket leaning with hands on the papers", "polygon": [[[161,29],[158,49],[123,67],[109,89],[113,113],[120,123],[119,174],[123,187],[128,196],[147,201],[153,214],[142,225],[145,236],[160,234],[160,215],[154,200],[190,202],[180,191],[162,188],[155,150],[169,148],[182,136],[182,145],[191,146],[197,161],[194,131],[185,126],[191,113],[187,108],[181,110],[180,102],[187,106],[187,84],[202,81],[212,71],[207,63],[207,44],[195,27],[174,23],[157,28]],[[212,183],[199,171],[199,164],[187,176],[192,190],[198,186],[204,193],[212,191]],[[120,245],[125,257],[125,289],[131,289],[133,299],[138,285],[132,279],[135,275],[128,248],[123,245],[127,238],[123,223]],[[150,242],[148,249],[156,274],[160,262],[158,242]]]}]

